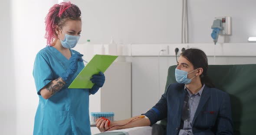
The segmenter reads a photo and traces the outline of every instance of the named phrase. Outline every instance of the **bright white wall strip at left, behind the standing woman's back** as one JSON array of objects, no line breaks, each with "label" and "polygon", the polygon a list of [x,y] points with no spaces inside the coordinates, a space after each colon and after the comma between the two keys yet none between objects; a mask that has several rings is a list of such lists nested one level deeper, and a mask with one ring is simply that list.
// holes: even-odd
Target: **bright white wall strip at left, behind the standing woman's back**
[{"label": "bright white wall strip at left, behind the standing woman's back", "polygon": [[33,134],[34,117],[39,102],[32,75],[33,64],[36,53],[46,46],[44,20],[50,7],[56,3],[58,0],[12,0],[15,73],[13,94],[16,95],[18,135]]}]

